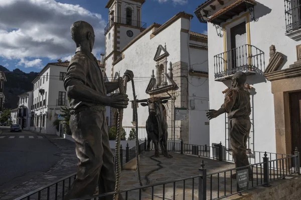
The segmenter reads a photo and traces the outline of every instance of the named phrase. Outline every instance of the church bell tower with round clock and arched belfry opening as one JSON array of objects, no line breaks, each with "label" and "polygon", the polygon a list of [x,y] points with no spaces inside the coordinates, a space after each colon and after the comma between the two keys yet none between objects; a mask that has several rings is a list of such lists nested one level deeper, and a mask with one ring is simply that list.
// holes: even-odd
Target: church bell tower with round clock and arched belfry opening
[{"label": "church bell tower with round clock and arched belfry opening", "polygon": [[109,80],[114,77],[114,62],[122,58],[121,50],[146,28],[141,22],[141,6],[145,0],[109,0],[105,35],[105,70]]}]

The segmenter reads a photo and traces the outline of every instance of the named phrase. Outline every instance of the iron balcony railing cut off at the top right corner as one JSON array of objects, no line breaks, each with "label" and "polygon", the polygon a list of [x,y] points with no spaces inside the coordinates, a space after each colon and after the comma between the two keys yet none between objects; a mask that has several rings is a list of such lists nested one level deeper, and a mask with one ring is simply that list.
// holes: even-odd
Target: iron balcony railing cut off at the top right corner
[{"label": "iron balcony railing cut off at the top right corner", "polygon": [[301,27],[301,4],[299,0],[284,0],[286,32]]}]

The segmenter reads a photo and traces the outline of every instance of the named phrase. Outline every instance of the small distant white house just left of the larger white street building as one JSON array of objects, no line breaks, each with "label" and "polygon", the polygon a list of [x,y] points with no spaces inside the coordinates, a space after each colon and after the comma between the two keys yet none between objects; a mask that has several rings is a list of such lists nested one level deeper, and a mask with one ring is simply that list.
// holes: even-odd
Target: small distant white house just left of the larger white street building
[{"label": "small distant white house just left of the larger white street building", "polygon": [[31,108],[33,105],[33,91],[27,91],[18,95],[18,115],[17,123],[22,129],[29,130],[31,126]]}]

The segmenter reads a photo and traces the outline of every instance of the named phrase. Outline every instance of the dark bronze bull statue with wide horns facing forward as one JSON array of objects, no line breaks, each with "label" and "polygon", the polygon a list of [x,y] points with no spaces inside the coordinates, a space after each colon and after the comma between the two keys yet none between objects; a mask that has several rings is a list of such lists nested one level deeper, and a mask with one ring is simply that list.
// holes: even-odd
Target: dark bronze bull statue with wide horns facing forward
[{"label": "dark bronze bull statue with wide horns facing forward", "polygon": [[[168,93],[169,94],[169,93]],[[168,154],[167,138],[168,138],[168,125],[166,117],[163,115],[163,103],[167,103],[168,99],[172,96],[165,97],[150,97],[146,99],[137,100],[141,102],[142,106],[148,106],[148,118],[146,120],[146,132],[147,132],[147,148],[150,150],[150,141],[153,141],[155,145],[155,156],[159,157],[159,144],[161,146],[162,154],[166,157],[171,157]],[[146,103],[145,103],[146,102]]]}]

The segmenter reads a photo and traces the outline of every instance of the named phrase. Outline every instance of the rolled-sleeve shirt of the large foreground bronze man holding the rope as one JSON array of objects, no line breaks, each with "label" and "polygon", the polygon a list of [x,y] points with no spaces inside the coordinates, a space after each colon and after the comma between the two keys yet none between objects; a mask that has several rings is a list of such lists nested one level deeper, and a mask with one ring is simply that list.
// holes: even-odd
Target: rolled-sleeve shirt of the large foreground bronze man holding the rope
[{"label": "rolled-sleeve shirt of the large foreground bronze man holding the rope", "polygon": [[[68,82],[74,79],[82,81],[86,86],[89,86],[100,95],[106,95],[104,78],[98,66],[97,59],[91,52],[84,51],[81,47],[76,48],[75,55],[71,58],[64,78],[64,84],[68,85]],[[70,99],[71,109],[93,105],[99,105],[99,103]]]}]

